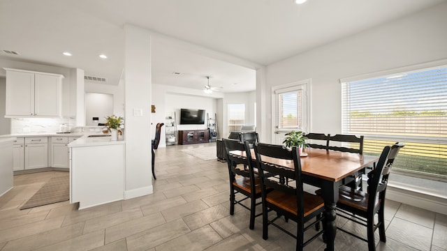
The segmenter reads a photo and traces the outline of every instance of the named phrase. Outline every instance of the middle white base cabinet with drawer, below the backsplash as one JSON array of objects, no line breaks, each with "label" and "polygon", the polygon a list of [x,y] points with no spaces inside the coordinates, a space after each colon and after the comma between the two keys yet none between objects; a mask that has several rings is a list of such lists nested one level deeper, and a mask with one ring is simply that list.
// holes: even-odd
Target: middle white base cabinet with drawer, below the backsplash
[{"label": "middle white base cabinet with drawer, below the backsplash", "polygon": [[48,167],[48,138],[25,137],[24,169]]}]

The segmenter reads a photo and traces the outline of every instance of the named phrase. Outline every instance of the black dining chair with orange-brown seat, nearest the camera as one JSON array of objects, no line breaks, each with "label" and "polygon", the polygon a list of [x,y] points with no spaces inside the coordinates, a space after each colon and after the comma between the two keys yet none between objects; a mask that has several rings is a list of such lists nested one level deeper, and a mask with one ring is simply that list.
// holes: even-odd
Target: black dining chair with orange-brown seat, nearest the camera
[{"label": "black dining chair with orange-brown seat, nearest the camera", "polygon": [[[261,176],[261,191],[263,201],[263,239],[268,239],[268,226],[273,225],[286,234],[296,238],[296,250],[302,250],[305,245],[309,244],[315,238],[323,234],[323,230],[316,231],[312,237],[304,240],[304,232],[312,229],[312,226],[323,218],[316,219],[316,215],[321,215],[324,211],[323,198],[318,195],[303,190],[301,161],[297,147],[292,150],[286,149],[282,145],[255,144],[254,150],[258,163],[259,176]],[[279,165],[268,162],[268,158],[276,158],[281,160],[292,160],[294,169],[281,167]],[[289,184],[295,181],[295,186],[281,182],[282,178],[288,178]],[[266,188],[272,188],[267,192]],[[276,211],[277,215],[272,220],[268,219],[268,211]],[[297,222],[296,234],[287,231],[275,221],[284,215],[286,219]],[[305,223],[311,222],[305,226]],[[324,227],[323,227],[324,228]]]}]

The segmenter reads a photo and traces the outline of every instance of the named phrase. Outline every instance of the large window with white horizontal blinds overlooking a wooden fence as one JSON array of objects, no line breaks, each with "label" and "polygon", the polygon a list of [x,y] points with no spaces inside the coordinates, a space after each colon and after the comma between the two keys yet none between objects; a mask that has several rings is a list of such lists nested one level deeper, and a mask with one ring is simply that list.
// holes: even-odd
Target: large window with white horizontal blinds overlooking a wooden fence
[{"label": "large window with white horizontal blinds overlooking a wooden fence", "polygon": [[364,152],[406,145],[395,167],[447,178],[447,66],[342,81],[342,131],[365,135]]}]

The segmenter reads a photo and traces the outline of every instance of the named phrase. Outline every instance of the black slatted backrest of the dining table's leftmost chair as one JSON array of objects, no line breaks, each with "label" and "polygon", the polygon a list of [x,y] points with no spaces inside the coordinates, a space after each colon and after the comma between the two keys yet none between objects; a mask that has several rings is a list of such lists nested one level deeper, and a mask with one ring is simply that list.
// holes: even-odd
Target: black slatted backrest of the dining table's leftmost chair
[{"label": "black slatted backrest of the dining table's leftmost chair", "polygon": [[[235,174],[247,178],[254,178],[251,152],[248,143],[240,142],[238,139],[223,139],[223,144],[225,144],[230,182],[234,181]],[[231,151],[242,151],[244,152],[244,156],[230,153]]]}]

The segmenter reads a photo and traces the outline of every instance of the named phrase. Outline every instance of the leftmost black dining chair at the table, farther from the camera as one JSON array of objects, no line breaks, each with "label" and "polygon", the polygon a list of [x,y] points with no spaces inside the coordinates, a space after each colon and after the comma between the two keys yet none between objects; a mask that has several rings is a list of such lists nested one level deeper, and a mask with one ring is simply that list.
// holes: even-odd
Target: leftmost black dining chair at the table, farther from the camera
[{"label": "leftmost black dining chair at the table, farther from the camera", "polygon": [[[251,161],[251,152],[248,142],[240,142],[237,139],[223,139],[225,144],[228,174],[230,174],[230,215],[235,213],[235,204],[240,204],[250,211],[250,229],[254,229],[254,219],[262,213],[256,215],[256,206],[261,204],[256,199],[261,198],[261,181],[254,175],[253,162]],[[245,156],[235,155],[230,151],[243,151]],[[242,199],[237,200],[235,195],[240,193],[244,195]],[[250,199],[250,207],[242,204],[242,201]]]}]

